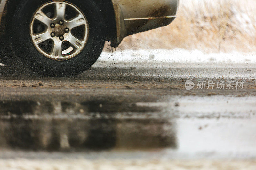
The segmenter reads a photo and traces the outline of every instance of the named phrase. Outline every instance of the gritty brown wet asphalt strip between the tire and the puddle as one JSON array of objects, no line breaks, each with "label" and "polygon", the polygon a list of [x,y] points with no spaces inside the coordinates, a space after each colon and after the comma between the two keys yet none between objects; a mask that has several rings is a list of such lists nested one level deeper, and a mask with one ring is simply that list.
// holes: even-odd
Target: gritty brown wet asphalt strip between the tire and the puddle
[{"label": "gritty brown wet asphalt strip between the tire and the puddle", "polygon": [[[195,83],[187,91],[186,80]],[[171,95],[256,94],[256,69],[238,67],[93,67],[73,78],[44,78],[24,68],[0,67],[0,100],[154,102]],[[198,81],[214,81],[214,89],[196,90]],[[217,81],[244,81],[242,90],[216,89]],[[235,86],[233,86],[235,87]],[[226,87],[225,87],[226,88]]]}]

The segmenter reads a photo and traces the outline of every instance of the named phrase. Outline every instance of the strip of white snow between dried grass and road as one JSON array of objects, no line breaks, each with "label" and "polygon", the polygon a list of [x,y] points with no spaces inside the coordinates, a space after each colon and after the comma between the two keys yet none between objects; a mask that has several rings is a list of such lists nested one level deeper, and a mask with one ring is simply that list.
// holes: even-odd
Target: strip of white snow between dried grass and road
[{"label": "strip of white snow between dried grass and road", "polygon": [[[112,55],[112,56],[111,56]],[[114,54],[103,52],[100,61],[113,61],[115,63],[256,63],[256,53],[210,53],[199,50],[185,49],[152,49],[152,50],[125,50]]]}]

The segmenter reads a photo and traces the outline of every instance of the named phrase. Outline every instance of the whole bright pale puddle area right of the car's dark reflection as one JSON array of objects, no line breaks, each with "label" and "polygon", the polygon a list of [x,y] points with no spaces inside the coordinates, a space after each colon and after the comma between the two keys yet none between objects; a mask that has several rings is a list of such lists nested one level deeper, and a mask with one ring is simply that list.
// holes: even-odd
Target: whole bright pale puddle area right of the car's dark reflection
[{"label": "whole bright pale puddle area right of the car's dark reflection", "polygon": [[[175,106],[176,104],[176,106]],[[180,158],[255,158],[256,97],[172,98]]]}]

